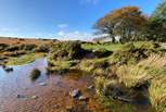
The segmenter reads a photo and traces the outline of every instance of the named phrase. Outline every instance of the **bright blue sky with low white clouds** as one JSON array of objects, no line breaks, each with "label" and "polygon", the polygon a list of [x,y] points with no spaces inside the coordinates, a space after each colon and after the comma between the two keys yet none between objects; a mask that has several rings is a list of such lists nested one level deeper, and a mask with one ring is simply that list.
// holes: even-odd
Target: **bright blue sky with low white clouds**
[{"label": "bright blue sky with low white clouds", "polygon": [[93,38],[92,25],[112,10],[139,7],[150,15],[161,0],[0,0],[0,36]]}]

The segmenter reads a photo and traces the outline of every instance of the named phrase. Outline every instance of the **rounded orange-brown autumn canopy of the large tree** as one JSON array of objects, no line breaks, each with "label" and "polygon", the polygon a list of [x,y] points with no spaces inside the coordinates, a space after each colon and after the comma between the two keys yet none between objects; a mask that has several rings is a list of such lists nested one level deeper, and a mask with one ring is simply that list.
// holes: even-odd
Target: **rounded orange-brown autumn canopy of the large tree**
[{"label": "rounded orange-brown autumn canopy of the large tree", "polygon": [[138,40],[145,25],[146,17],[139,8],[124,7],[99,18],[94,28],[98,33],[108,34],[115,42],[115,36],[120,36],[120,41]]}]

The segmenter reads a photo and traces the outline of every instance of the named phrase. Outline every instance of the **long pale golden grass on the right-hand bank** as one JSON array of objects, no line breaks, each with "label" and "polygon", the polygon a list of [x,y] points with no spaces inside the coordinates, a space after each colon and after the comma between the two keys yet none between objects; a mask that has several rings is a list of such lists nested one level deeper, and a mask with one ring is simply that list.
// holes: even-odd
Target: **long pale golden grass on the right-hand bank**
[{"label": "long pale golden grass on the right-hand bank", "polygon": [[137,65],[124,65],[117,70],[119,82],[135,87],[142,80],[150,82],[149,99],[157,112],[166,111],[166,55],[151,55]]}]

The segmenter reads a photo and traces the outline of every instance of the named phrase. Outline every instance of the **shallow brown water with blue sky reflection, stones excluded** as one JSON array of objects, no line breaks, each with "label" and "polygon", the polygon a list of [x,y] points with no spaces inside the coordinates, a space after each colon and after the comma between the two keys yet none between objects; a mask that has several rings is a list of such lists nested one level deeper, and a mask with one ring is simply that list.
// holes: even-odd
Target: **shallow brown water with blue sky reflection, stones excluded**
[{"label": "shallow brown water with blue sky reflection, stones excluded", "polygon": [[[47,59],[38,59],[29,64],[11,66],[13,72],[9,73],[0,66],[0,112],[64,112],[68,107],[82,104],[74,101],[68,95],[71,90],[77,88],[84,96],[90,98],[86,107],[100,112],[98,103],[94,103],[97,99],[93,97],[93,91],[87,92],[91,77],[47,75]],[[29,78],[34,69],[41,71],[41,76],[36,82]],[[79,74],[79,72],[68,74]],[[39,85],[43,82],[46,86]]]}]

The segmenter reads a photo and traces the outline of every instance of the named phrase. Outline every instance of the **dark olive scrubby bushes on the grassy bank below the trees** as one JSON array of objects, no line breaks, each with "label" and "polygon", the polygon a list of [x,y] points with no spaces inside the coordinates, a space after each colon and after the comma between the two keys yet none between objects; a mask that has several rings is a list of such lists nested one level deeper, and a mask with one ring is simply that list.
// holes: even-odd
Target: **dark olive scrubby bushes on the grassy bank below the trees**
[{"label": "dark olive scrubby bushes on the grassy bank below the trees", "polygon": [[137,64],[140,60],[149,58],[152,53],[159,53],[158,45],[144,42],[136,46],[135,42],[125,43],[120,50],[113,53],[111,61],[118,64]]}]

